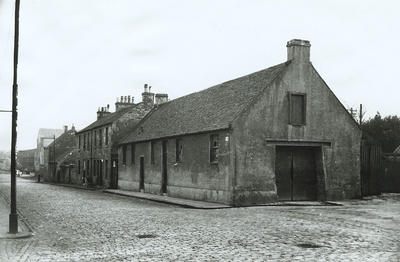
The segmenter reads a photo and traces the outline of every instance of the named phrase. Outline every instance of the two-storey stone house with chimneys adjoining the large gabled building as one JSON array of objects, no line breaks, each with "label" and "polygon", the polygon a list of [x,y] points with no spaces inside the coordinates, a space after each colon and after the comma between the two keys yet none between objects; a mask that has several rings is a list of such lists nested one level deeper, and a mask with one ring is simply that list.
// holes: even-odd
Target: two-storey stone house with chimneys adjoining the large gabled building
[{"label": "two-storey stone house with chimneys adjoining the large gabled building", "polygon": [[158,99],[160,94],[152,93],[146,84],[142,102],[135,104],[133,97],[121,96],[115,112],[110,112],[109,105],[99,108],[97,120],[77,133],[76,166],[82,180],[94,186],[117,187],[117,141],[153,108],[155,97]]}]

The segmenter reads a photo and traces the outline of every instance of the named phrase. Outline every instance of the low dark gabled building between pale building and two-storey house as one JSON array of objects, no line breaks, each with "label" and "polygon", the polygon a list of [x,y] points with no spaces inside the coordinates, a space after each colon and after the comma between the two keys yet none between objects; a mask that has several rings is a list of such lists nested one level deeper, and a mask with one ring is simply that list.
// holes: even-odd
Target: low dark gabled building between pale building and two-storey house
[{"label": "low dark gabled building between pale building and two-storey house", "polygon": [[[75,178],[75,164],[70,163],[71,156],[75,155],[73,153],[77,150],[75,132],[76,130],[74,126],[72,126],[70,130],[66,127],[64,133],[44,148],[47,172],[44,172],[43,174],[43,181],[56,183],[78,182]],[[67,164],[70,169],[68,177],[66,177],[66,174],[61,168]]]}]

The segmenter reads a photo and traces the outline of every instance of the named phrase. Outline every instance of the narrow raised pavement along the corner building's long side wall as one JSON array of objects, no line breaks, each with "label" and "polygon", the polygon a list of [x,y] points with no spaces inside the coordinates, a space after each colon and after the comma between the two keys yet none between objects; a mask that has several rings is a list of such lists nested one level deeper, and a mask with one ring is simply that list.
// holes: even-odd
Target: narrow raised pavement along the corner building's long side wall
[{"label": "narrow raised pavement along the corner building's long side wall", "polygon": [[225,204],[211,203],[211,202],[205,202],[205,201],[196,201],[196,200],[175,198],[175,197],[169,197],[169,196],[161,196],[161,195],[154,195],[154,194],[148,194],[148,193],[127,191],[127,190],[106,189],[106,190],[103,190],[103,192],[109,193],[109,194],[120,195],[120,196],[128,196],[128,197],[146,199],[146,200],[150,200],[150,201],[178,205],[178,206],[194,208],[194,209],[231,208],[231,206],[225,205]]}]

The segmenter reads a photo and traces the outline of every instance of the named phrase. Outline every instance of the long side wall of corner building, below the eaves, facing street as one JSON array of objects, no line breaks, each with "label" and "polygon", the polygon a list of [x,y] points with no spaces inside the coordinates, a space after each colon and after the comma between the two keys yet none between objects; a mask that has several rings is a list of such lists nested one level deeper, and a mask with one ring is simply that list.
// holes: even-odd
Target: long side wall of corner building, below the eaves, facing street
[{"label": "long side wall of corner building, below the eaves, facing street", "polygon": [[[219,136],[218,163],[210,163],[210,135]],[[167,141],[168,196],[211,202],[230,203],[230,135],[227,131],[179,137],[183,144],[182,161],[176,161],[176,138]],[[118,185],[125,190],[139,190],[140,157],[144,157],[144,192],[161,194],[162,140],[154,141],[154,162],[151,163],[150,141],[135,144],[135,160],[127,145],[126,164],[119,147]]]}]

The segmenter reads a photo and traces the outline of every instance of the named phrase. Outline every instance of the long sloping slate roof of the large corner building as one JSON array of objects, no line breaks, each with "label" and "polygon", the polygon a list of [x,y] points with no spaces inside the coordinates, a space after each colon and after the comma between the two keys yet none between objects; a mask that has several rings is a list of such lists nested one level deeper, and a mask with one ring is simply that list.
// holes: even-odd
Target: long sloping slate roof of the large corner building
[{"label": "long sloping slate roof of the large corner building", "polygon": [[121,143],[229,128],[288,64],[278,64],[161,104]]}]

